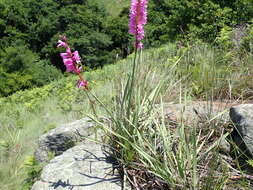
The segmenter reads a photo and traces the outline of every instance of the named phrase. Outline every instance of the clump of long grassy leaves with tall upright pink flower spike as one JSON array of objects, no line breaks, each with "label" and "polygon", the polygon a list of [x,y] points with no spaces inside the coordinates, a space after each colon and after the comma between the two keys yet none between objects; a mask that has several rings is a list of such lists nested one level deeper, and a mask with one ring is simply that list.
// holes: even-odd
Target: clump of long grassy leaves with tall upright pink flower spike
[{"label": "clump of long grassy leaves with tall upright pink flower spike", "polygon": [[[132,73],[121,83],[114,108],[107,108],[95,97],[107,111],[110,122],[94,120],[106,132],[109,152],[118,160],[123,178],[129,179],[135,189],[197,190],[205,183],[222,189],[227,180],[226,176],[222,177],[222,171],[214,172],[217,180],[206,179],[208,164],[213,163],[210,170],[218,169],[219,165],[211,155],[220,139],[208,142],[214,131],[203,134],[194,123],[191,127],[183,123],[171,125],[164,117],[162,92],[166,92],[164,88],[174,87],[168,81],[175,80],[180,86],[174,72],[179,61],[167,67],[159,81],[155,80],[155,72],[150,72],[143,62],[140,36],[144,31],[142,23],[138,28],[138,21],[142,15],[146,16],[146,12],[141,12],[145,11],[145,3],[133,0],[130,11],[130,33],[136,37]],[[146,23],[146,18],[144,21]],[[182,98],[180,94],[179,99]]]}]

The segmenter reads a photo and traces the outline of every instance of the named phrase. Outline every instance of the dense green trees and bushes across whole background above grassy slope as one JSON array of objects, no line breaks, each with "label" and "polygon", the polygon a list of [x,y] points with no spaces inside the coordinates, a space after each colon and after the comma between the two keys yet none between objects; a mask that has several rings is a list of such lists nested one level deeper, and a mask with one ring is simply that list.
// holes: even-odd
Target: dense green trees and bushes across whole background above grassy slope
[{"label": "dense green trees and bushes across whole background above grassy slope", "polygon": [[[1,0],[0,96],[43,86],[62,77],[56,49],[59,35],[69,37],[87,68],[113,63],[132,52],[128,5],[123,1]],[[145,46],[201,40],[219,44],[220,31],[250,24],[251,0],[151,0]]]}]

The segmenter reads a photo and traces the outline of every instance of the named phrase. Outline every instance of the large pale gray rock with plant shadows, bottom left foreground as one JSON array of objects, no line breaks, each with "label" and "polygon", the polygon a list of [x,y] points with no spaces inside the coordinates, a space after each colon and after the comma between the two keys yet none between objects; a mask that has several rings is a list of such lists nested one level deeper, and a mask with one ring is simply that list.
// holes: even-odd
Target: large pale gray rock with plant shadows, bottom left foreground
[{"label": "large pale gray rock with plant shadows, bottom left foreground", "polygon": [[87,141],[52,159],[31,190],[120,190],[120,177],[112,171],[101,146]]}]

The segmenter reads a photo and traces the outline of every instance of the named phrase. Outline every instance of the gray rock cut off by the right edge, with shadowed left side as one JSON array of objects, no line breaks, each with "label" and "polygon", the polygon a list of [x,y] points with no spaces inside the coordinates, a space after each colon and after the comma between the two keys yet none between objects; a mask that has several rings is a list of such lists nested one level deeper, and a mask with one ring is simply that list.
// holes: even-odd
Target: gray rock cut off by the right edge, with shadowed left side
[{"label": "gray rock cut off by the right edge, with shadowed left side", "polygon": [[236,131],[233,135],[235,143],[241,149],[246,146],[247,151],[253,155],[253,104],[233,106],[229,115],[235,124]]}]

